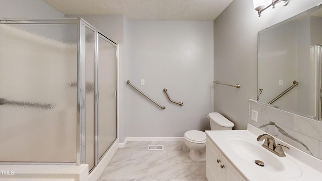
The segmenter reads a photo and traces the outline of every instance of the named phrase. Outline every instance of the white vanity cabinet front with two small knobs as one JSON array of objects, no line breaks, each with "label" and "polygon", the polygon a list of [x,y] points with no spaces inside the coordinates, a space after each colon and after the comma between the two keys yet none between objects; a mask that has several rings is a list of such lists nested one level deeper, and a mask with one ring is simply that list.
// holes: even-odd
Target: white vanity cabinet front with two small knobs
[{"label": "white vanity cabinet front with two small knobs", "polygon": [[206,139],[206,175],[208,181],[248,180],[221,153],[208,135]]}]

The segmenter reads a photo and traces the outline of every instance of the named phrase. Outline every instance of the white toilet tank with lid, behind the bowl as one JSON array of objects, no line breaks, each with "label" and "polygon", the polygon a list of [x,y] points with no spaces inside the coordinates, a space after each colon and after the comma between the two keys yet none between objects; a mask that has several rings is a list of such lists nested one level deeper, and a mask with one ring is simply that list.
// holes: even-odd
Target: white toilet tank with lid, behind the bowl
[{"label": "white toilet tank with lid, behind the bowl", "polygon": [[227,118],[219,113],[209,113],[208,119],[210,121],[211,130],[232,130],[235,125]]}]

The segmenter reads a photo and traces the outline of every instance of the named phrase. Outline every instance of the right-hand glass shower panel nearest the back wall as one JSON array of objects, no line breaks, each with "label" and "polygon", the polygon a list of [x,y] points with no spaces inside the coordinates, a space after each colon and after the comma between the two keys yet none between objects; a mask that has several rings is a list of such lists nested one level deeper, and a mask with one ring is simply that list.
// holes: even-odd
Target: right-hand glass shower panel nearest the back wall
[{"label": "right-hand glass shower panel nearest the back wall", "polygon": [[99,158],[114,142],[116,128],[116,47],[99,36]]}]

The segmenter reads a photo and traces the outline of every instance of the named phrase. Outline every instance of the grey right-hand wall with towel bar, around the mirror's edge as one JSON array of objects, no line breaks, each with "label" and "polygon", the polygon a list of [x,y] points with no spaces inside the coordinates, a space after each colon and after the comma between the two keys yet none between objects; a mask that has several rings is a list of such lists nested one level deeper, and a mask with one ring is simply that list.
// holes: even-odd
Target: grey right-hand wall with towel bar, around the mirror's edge
[{"label": "grey right-hand wall with towel bar, around the mirror's edge", "polygon": [[214,111],[222,113],[246,129],[249,99],[257,99],[257,33],[298,13],[320,0],[292,0],[287,6],[277,5],[258,17],[253,1],[234,0],[214,21],[214,79],[240,83],[239,89],[215,85]]}]

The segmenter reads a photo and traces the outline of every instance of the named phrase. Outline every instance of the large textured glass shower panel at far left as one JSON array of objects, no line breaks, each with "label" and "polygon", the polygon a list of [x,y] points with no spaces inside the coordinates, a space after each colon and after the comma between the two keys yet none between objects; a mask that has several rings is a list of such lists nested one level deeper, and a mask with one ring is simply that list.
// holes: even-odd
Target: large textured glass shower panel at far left
[{"label": "large textured glass shower panel at far left", "polygon": [[75,32],[0,24],[0,161],[76,162]]}]

